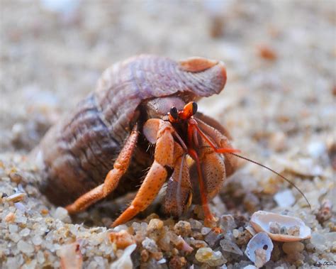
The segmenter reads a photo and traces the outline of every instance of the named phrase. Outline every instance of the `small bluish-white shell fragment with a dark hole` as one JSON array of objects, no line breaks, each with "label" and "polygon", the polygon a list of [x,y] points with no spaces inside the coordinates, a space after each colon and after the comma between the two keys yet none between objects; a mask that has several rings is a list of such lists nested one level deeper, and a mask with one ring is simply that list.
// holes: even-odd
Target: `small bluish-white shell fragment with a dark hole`
[{"label": "small bluish-white shell fragment with a dark hole", "polygon": [[267,233],[261,232],[253,236],[247,244],[245,255],[257,268],[261,268],[271,258],[273,243]]}]

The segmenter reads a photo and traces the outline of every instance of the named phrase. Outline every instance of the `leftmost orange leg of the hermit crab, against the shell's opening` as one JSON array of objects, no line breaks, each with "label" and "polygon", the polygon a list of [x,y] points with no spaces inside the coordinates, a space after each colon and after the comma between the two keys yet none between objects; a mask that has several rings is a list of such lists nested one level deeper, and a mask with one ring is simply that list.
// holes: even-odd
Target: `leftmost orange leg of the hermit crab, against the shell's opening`
[{"label": "leftmost orange leg of the hermit crab, against the shell's opening", "polygon": [[86,192],[79,197],[73,204],[69,204],[65,209],[69,214],[80,212],[91,204],[103,199],[108,194],[113,192],[118,186],[119,180],[128,169],[130,159],[132,158],[133,150],[138,141],[137,125],[134,126],[132,133],[128,136],[123,149],[118,155],[118,158],[113,164],[113,170],[108,172],[103,184],[95,187],[93,190]]}]

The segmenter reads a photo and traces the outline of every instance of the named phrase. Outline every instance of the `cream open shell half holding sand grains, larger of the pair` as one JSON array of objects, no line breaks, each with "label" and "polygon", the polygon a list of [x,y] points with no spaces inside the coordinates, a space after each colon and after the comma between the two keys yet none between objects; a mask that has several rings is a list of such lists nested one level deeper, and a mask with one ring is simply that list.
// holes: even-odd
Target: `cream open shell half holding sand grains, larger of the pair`
[{"label": "cream open shell half holding sand grains, larger of the pair", "polygon": [[294,216],[258,211],[252,215],[250,224],[256,231],[266,232],[274,241],[301,241],[311,236],[310,228]]}]

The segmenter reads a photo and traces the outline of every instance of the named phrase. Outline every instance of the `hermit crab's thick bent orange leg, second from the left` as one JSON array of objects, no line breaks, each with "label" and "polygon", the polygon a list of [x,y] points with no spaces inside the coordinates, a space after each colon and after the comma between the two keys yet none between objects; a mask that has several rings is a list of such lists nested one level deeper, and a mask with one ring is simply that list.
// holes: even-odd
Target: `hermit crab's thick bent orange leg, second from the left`
[{"label": "hermit crab's thick bent orange leg, second from the left", "polygon": [[174,138],[172,133],[174,133],[174,128],[172,125],[160,119],[149,119],[143,126],[143,133],[148,141],[156,143],[154,163],[150,167],[132,203],[113,222],[113,227],[129,221],[152,203],[167,180],[167,170],[164,166],[173,166]]}]

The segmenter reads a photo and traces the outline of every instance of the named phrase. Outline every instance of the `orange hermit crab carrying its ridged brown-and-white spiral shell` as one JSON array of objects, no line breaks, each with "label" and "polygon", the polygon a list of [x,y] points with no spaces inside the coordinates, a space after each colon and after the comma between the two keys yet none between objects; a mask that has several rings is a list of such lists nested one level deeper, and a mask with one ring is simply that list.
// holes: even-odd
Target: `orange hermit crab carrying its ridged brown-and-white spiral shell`
[{"label": "orange hermit crab carrying its ridged brown-and-white spiral shell", "polygon": [[[141,194],[144,185],[151,187],[144,182],[137,197],[157,194],[170,178],[173,183],[168,182],[165,207],[168,213],[177,214],[180,201],[176,195],[169,197],[175,185],[181,202],[186,203],[192,193],[195,201],[197,197],[197,179],[193,178],[196,168],[184,162],[186,154],[193,154],[186,152],[190,149],[196,150],[200,158],[205,190],[209,198],[213,197],[225,176],[235,169],[234,160],[204,146],[206,141],[199,133],[196,148],[188,130],[198,124],[216,147],[230,148],[225,129],[202,114],[178,122],[170,122],[167,115],[172,106],[181,111],[191,101],[218,94],[225,81],[223,65],[202,58],[175,62],[141,55],[113,65],[103,73],[96,91],[53,126],[33,151],[43,171],[41,190],[55,204],[65,205],[77,199],[67,207],[74,213],[103,197],[136,190],[146,175],[144,171],[151,167],[145,182],[150,180],[157,190],[151,194],[146,189]],[[147,150],[151,143],[156,143],[155,151]],[[179,170],[182,172],[177,176]],[[174,181],[174,177],[178,180]],[[212,184],[211,178],[218,182]],[[148,201],[152,199],[148,197]],[[125,213],[115,224],[134,216]]]}]

